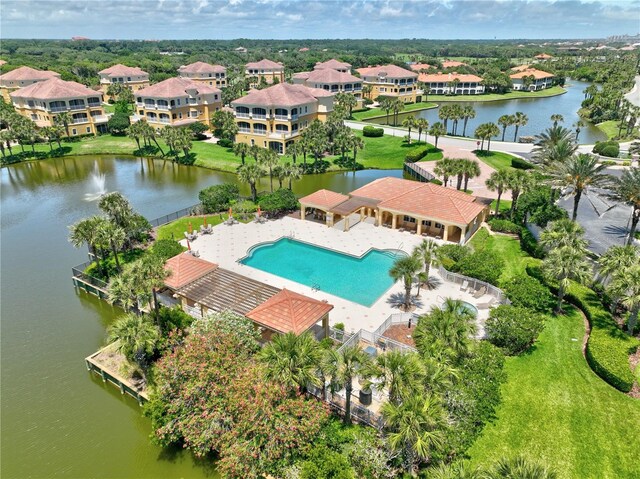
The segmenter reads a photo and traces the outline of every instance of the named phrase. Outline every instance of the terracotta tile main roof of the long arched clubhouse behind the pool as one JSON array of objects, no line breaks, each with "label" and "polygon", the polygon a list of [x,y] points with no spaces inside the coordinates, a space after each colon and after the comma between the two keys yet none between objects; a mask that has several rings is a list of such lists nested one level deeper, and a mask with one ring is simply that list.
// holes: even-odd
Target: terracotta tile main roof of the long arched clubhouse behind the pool
[{"label": "terracotta tile main roof of the long arched clubhouse behind the pool", "polygon": [[447,223],[467,225],[486,206],[476,197],[434,183],[401,178],[380,178],[351,192],[351,196],[380,200],[379,208],[418,215]]}]

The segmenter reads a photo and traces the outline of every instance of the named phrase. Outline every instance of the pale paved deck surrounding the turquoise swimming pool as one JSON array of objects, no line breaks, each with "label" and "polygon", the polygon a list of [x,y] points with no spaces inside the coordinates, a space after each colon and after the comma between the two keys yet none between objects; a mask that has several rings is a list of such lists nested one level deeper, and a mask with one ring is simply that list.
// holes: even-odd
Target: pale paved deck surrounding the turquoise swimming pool
[{"label": "pale paved deck surrounding the turquoise swimming pool", "polygon": [[[311,287],[281,278],[238,262],[246,256],[247,251],[258,243],[276,241],[282,237],[292,237],[300,241],[334,249],[343,253],[361,256],[371,248],[400,249],[411,253],[423,238],[409,232],[400,232],[388,228],[375,227],[369,223],[358,223],[347,232],[339,227],[329,228],[313,221],[285,217],[264,223],[219,224],[213,233],[200,235],[191,243],[191,248],[200,253],[200,257],[218,264],[222,268],[262,281],[277,288],[287,288],[315,299],[327,300],[334,305],[329,314],[330,324],[343,323],[346,331],[356,332],[360,329],[374,331],[389,315],[400,310],[397,303],[404,298],[404,288],[400,282],[394,284],[371,307],[353,303],[346,299],[314,291]],[[436,240],[437,241],[437,240]],[[438,241],[443,243],[442,241]],[[186,241],[181,241],[186,246]],[[339,274],[339,272],[336,272]],[[431,276],[439,278],[437,271],[431,269]],[[474,299],[469,293],[460,291],[458,285],[440,279],[440,286],[431,291],[421,289],[420,298],[415,299],[416,313],[426,313],[432,306],[442,303],[442,298],[462,299],[478,304],[489,299],[483,296]],[[416,289],[414,287],[413,294]],[[478,314],[480,326],[488,316],[487,310]]]}]

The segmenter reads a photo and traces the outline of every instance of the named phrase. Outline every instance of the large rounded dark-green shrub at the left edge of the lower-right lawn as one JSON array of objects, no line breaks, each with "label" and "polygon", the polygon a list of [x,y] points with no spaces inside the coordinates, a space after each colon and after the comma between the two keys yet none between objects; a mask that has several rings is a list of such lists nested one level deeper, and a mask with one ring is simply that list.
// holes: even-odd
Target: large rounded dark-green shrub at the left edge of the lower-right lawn
[{"label": "large rounded dark-green shrub at the left edge of the lower-right lawn", "polygon": [[542,314],[505,304],[491,310],[485,331],[491,344],[502,348],[506,354],[515,356],[531,347],[543,326]]}]

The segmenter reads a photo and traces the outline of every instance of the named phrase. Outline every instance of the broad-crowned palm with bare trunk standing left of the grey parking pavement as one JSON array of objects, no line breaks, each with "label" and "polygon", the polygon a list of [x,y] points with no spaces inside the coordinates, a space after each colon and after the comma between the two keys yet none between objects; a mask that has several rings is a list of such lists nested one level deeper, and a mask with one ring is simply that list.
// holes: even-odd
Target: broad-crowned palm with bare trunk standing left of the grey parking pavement
[{"label": "broad-crowned palm with bare trunk standing left of the grey parking pavement", "polygon": [[587,153],[572,156],[566,163],[554,163],[548,169],[550,182],[553,186],[567,188],[574,197],[573,216],[578,216],[578,204],[582,193],[592,186],[599,187],[609,183],[611,177],[602,173],[606,165],[598,163],[598,159]]}]

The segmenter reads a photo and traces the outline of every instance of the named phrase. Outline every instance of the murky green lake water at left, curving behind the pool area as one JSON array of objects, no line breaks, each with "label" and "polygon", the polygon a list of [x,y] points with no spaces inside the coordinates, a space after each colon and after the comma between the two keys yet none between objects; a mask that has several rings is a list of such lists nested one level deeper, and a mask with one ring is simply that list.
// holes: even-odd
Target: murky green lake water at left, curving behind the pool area
[{"label": "murky green lake water at left, curving behind the pool area", "polygon": [[[78,157],[0,170],[2,457],[9,478],[217,478],[212,463],[149,442],[138,404],[90,375],[84,358],[105,344],[121,312],[82,292],[71,267],[87,259],[67,241],[67,226],[98,213],[92,172],[147,218],[195,204],[206,186],[235,175],[171,162]],[[307,176],[297,194],[347,192],[394,171]],[[265,182],[261,190],[266,190]],[[242,187],[248,194],[248,187]]]}]

